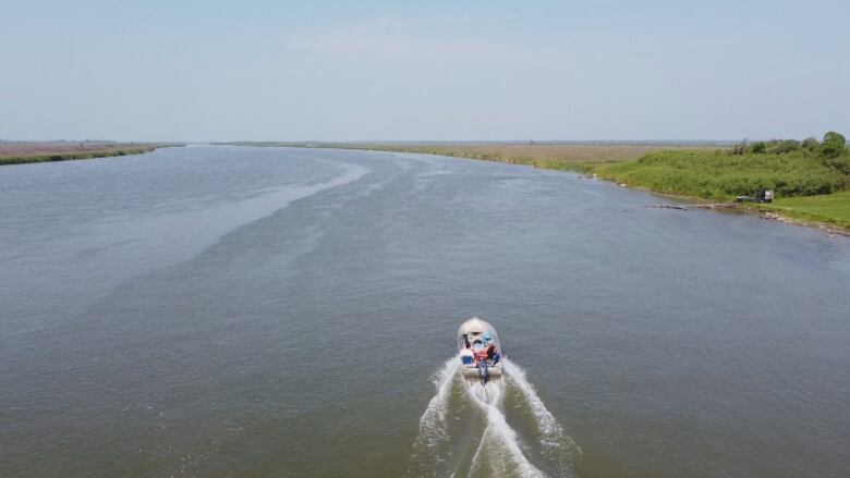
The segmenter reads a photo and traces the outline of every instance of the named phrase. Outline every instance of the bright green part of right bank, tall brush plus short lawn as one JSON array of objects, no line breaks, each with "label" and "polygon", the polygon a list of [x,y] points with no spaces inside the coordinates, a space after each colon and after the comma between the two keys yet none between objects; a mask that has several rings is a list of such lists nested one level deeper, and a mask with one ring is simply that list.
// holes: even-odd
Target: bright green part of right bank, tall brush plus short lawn
[{"label": "bright green part of right bank, tall brush plus short lawn", "polygon": [[[788,152],[660,151],[598,168],[595,174],[621,185],[714,208],[758,213],[765,219],[850,234],[850,174],[846,157],[823,158],[817,149]],[[741,194],[770,189],[770,204],[736,203]]]}]

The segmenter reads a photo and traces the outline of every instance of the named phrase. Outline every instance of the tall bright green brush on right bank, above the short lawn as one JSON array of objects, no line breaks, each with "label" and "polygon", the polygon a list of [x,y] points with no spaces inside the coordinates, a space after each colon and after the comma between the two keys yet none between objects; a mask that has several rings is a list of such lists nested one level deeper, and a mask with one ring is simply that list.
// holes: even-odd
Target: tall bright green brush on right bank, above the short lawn
[{"label": "tall bright green brush on right bank, above the short lawn", "polygon": [[731,200],[760,188],[777,197],[829,194],[850,186],[850,177],[804,152],[748,154],[724,150],[652,152],[636,161],[600,166],[599,176],[657,193]]}]

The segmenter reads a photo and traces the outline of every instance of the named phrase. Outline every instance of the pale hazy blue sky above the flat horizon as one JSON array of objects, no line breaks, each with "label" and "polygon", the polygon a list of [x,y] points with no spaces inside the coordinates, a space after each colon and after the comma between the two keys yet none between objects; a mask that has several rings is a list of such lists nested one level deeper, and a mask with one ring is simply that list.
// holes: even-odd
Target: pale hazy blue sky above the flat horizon
[{"label": "pale hazy blue sky above the flat horizon", "polygon": [[0,0],[0,139],[850,133],[850,2]]}]

